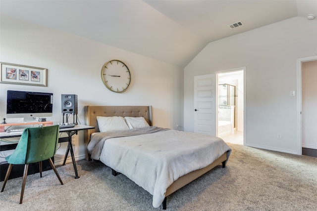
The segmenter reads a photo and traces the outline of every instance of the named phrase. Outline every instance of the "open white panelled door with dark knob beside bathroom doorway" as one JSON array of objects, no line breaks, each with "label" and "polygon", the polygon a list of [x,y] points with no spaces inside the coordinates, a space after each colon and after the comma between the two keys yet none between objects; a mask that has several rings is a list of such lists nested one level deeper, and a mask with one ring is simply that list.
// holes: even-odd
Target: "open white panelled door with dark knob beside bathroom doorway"
[{"label": "open white panelled door with dark knob beside bathroom doorway", "polygon": [[216,135],[215,74],[194,77],[194,132]]}]

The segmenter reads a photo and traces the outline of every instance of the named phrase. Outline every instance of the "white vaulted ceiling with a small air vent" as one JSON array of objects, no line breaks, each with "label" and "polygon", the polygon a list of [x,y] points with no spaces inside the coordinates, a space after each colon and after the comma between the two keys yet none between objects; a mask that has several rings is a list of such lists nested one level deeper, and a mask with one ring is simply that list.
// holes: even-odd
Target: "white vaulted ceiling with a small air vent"
[{"label": "white vaulted ceiling with a small air vent", "polygon": [[317,0],[0,0],[0,13],[185,67],[209,42],[317,15]]}]

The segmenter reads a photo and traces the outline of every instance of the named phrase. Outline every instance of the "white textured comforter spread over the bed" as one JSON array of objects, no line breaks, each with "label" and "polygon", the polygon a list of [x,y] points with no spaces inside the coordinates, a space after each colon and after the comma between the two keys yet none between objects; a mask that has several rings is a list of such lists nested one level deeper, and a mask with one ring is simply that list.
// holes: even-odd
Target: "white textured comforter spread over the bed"
[{"label": "white textured comforter spread over the bed", "polygon": [[[93,139],[93,137],[92,137]],[[95,141],[88,146],[93,148]],[[153,195],[158,208],[166,189],[180,176],[202,169],[231,148],[220,138],[178,130],[109,138],[100,161]]]}]

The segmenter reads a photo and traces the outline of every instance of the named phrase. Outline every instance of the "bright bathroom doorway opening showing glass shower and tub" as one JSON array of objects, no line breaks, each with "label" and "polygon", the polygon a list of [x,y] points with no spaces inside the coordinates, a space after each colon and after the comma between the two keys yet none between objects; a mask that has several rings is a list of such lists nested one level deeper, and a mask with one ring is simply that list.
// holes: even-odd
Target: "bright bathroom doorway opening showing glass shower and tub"
[{"label": "bright bathroom doorway opening showing glass shower and tub", "polygon": [[225,142],[244,144],[244,72],[227,70],[217,78],[217,136]]}]

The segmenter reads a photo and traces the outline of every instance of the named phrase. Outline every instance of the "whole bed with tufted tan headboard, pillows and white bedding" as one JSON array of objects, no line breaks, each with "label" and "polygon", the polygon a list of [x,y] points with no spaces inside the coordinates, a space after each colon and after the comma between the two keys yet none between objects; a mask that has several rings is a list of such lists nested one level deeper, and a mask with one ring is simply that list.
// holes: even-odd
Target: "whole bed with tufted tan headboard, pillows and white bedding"
[{"label": "whole bed with tufted tan headboard, pillows and white bedding", "polygon": [[[105,131],[109,121],[122,117],[127,129]],[[138,118],[147,127],[133,127]],[[220,138],[152,126],[151,106],[86,106],[85,121],[95,127],[85,130],[86,160],[100,160],[113,175],[124,174],[153,195],[153,207],[163,210],[167,196],[220,164],[225,168],[231,153]]]}]

